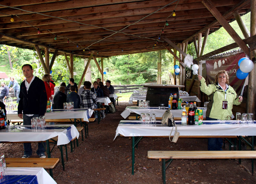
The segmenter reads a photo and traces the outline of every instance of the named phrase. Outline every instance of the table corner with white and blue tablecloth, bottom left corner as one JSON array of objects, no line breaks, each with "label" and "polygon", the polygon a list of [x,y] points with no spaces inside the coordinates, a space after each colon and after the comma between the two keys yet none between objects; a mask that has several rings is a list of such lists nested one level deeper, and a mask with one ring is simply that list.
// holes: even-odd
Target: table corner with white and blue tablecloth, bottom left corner
[{"label": "table corner with white and blue tablecloth, bottom left corner", "polygon": [[3,183],[57,184],[43,167],[7,167]]}]

